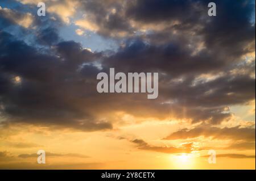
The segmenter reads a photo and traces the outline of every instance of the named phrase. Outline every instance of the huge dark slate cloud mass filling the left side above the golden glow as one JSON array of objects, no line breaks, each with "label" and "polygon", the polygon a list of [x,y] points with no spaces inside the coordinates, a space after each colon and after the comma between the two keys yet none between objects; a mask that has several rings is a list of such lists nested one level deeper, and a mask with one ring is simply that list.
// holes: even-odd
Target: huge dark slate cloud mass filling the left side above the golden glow
[{"label": "huge dark slate cloud mass filling the left side above the golden glow", "polygon": [[[65,48],[63,44],[70,43],[67,42],[56,45],[60,57],[42,54],[6,32],[0,33],[0,43],[0,101],[5,116],[14,122],[56,124],[83,131],[112,128],[110,123],[95,120],[79,106],[81,98],[90,93],[86,87],[92,87],[92,83],[86,85],[86,78],[81,77],[77,69],[81,59],[86,62],[86,57],[90,60],[93,53],[82,50],[76,43],[71,46],[77,47],[61,52]],[[72,54],[75,57],[71,57]],[[76,56],[81,59],[77,60]],[[20,82],[14,81],[15,76],[20,77]]]}]

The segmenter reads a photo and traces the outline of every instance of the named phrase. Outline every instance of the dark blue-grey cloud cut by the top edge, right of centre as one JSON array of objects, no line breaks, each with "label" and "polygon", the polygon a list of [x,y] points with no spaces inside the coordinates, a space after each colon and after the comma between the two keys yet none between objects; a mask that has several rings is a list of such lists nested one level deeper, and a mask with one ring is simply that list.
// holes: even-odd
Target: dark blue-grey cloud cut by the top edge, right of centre
[{"label": "dark blue-grey cloud cut by the top edge, right of centre", "polygon": [[[181,20],[186,23],[196,23],[204,13],[203,1],[167,1],[142,0],[129,1],[126,15],[142,22],[161,22]],[[207,6],[204,6],[207,7]],[[191,22],[192,20],[192,22]]]}]

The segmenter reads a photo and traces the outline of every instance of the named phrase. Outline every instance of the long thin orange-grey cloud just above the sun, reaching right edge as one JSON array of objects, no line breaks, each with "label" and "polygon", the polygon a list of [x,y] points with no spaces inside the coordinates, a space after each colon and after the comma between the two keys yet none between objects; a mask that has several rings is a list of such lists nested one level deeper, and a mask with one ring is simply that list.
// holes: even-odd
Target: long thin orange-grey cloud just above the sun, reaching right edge
[{"label": "long thin orange-grey cloud just above the sun, reaching right edge", "polygon": [[240,126],[231,128],[217,128],[209,125],[199,125],[192,129],[185,128],[171,133],[169,136],[164,138],[164,140],[185,140],[200,136],[220,140],[228,139],[255,141],[255,128],[240,128]]}]

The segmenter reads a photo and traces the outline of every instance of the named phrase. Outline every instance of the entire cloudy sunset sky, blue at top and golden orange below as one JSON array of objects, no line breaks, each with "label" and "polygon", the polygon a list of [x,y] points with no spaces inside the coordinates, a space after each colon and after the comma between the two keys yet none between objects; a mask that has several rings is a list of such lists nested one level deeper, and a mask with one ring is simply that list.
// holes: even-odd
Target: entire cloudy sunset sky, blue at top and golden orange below
[{"label": "entire cloudy sunset sky, blue at top and golden orange below", "polygon": [[209,2],[1,0],[0,169],[255,169],[255,1]]}]

